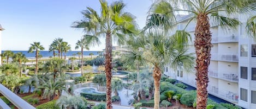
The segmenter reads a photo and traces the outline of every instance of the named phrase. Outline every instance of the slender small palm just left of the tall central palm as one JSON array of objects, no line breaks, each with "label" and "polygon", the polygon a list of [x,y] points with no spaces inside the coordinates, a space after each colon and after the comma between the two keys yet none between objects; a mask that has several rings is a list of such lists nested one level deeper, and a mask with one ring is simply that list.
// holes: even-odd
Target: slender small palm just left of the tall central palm
[{"label": "slender small palm just left of the tall central palm", "polygon": [[83,36],[81,40],[78,40],[78,42],[75,43],[75,49],[81,48],[81,55],[82,55],[82,60],[81,60],[81,74],[83,75],[84,71],[84,48],[89,50],[88,44],[86,43],[86,39]]}]

